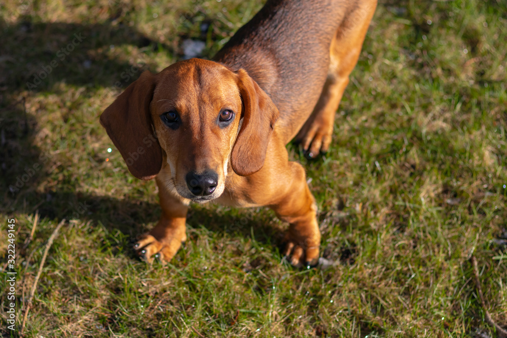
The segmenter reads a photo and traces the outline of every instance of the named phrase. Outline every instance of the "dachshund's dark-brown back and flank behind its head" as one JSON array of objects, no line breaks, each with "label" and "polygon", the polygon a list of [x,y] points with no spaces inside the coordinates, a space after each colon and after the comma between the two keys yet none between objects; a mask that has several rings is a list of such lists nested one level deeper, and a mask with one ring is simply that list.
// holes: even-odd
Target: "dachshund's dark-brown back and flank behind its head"
[{"label": "dachshund's dark-brown back and flank behind its head", "polygon": [[292,138],[317,103],[331,41],[354,6],[355,0],[268,0],[213,60],[246,69],[278,107],[280,129]]}]

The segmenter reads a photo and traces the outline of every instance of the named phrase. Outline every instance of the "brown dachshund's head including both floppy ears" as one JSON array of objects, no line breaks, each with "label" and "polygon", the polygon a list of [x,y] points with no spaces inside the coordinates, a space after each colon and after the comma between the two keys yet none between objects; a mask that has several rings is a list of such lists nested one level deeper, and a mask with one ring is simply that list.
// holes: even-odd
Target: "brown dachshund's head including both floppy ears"
[{"label": "brown dachshund's head including both floppy ears", "polygon": [[223,193],[229,159],[241,176],[262,168],[278,115],[243,69],[190,59],[143,72],[100,123],[132,175],[152,179],[166,161],[168,189],[204,202]]}]

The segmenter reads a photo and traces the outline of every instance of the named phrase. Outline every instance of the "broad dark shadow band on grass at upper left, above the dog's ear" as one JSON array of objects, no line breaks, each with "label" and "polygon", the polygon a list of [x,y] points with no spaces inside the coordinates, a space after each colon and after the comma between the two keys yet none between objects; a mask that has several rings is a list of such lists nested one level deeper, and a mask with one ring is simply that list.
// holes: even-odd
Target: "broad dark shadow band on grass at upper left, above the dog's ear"
[{"label": "broad dark shadow band on grass at upper left, above the dog's ear", "polygon": [[123,24],[40,23],[26,17],[16,25],[0,28],[0,88],[4,93],[51,90],[58,82],[113,87],[120,81],[125,87],[139,76],[138,70],[131,68],[140,64],[122,59],[122,47],[135,46],[145,53],[175,52],[172,46]]}]

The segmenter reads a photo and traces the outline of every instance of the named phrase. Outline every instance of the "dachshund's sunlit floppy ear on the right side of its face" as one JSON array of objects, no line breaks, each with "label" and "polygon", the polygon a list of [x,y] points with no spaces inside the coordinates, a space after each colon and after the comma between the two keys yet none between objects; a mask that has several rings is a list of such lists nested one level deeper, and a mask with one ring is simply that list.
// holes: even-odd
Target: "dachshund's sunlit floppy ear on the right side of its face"
[{"label": "dachshund's sunlit floppy ear on the right side of its face", "polygon": [[232,148],[231,166],[240,176],[261,170],[278,108],[244,69],[237,71],[243,123]]}]

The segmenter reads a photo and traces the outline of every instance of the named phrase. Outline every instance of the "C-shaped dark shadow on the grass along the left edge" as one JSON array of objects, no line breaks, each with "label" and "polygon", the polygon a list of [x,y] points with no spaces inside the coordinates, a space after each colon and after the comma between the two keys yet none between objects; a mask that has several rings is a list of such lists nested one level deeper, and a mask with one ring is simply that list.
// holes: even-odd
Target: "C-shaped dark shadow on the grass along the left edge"
[{"label": "C-shaped dark shadow on the grass along the left edge", "polygon": [[[25,17],[15,25],[0,24],[0,28],[3,30],[0,43],[3,46],[0,52],[0,210],[30,213],[39,209],[42,217],[61,219],[73,215],[74,218],[76,215],[93,218],[96,210],[104,208],[107,212],[101,214],[111,215],[111,219],[101,220],[106,224],[116,223],[126,228],[135,223],[134,219],[152,221],[156,217],[153,210],[158,210],[154,205],[77,196],[69,192],[73,184],[65,179],[53,182],[57,191],[48,187],[47,193],[37,193],[39,182],[56,167],[47,167],[53,162],[51,155],[43,153],[34,142],[35,131],[50,126],[38,126],[37,117],[27,114],[23,92],[52,92],[53,86],[62,82],[116,91],[135,80],[149,64],[123,60],[120,51],[115,54],[115,48],[129,45],[144,51],[171,51],[171,47],[122,24],[41,23]],[[62,110],[72,114],[71,108]],[[37,110],[37,114],[44,112],[44,106]],[[62,140],[64,137],[62,135]],[[138,217],[138,213],[143,216]]]}]

